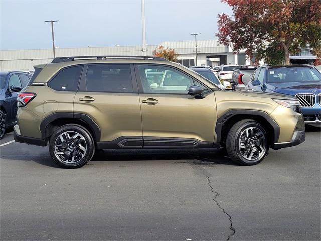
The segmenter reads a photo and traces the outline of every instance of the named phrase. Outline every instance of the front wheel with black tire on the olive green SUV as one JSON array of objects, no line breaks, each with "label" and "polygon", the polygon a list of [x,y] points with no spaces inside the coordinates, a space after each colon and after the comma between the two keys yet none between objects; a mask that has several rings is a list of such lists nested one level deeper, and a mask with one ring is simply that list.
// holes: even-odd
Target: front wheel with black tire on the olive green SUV
[{"label": "front wheel with black tire on the olive green SUV", "polygon": [[265,129],[251,119],[235,123],[227,134],[226,150],[236,164],[250,166],[260,163],[269,151]]}]

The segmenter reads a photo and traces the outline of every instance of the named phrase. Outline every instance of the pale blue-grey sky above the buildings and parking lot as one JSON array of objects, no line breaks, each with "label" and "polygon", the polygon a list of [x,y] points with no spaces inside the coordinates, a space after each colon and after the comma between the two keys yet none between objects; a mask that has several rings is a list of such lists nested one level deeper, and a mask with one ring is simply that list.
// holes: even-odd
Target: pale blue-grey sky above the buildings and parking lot
[{"label": "pale blue-grey sky above the buildings and parking lot", "polygon": [[[217,15],[232,10],[220,0],[145,0],[146,42],[215,39]],[[142,45],[140,0],[0,0],[0,49]]]}]

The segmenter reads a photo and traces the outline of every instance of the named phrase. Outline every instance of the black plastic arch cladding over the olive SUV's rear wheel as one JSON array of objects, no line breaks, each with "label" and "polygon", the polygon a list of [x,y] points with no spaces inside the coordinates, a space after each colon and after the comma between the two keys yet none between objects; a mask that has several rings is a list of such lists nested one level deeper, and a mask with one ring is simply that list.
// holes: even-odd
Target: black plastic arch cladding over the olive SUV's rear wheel
[{"label": "black plastic arch cladding over the olive SUV's rear wheel", "polygon": [[78,124],[86,128],[94,142],[100,141],[100,128],[97,123],[88,115],[80,113],[53,113],[40,124],[41,138],[48,139],[55,130],[66,124]]}]

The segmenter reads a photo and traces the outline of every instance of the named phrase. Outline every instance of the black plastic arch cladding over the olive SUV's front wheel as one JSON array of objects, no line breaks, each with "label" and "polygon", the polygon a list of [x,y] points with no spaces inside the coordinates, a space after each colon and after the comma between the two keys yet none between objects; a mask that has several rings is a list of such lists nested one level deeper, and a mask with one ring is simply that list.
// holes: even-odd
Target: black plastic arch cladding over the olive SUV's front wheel
[{"label": "black plastic arch cladding over the olive SUV's front wheel", "polygon": [[215,132],[217,135],[216,142],[221,146],[225,145],[228,130],[242,119],[253,119],[259,122],[266,130],[269,137],[269,145],[274,147],[279,139],[280,127],[274,119],[266,112],[260,110],[230,110],[218,118]]}]

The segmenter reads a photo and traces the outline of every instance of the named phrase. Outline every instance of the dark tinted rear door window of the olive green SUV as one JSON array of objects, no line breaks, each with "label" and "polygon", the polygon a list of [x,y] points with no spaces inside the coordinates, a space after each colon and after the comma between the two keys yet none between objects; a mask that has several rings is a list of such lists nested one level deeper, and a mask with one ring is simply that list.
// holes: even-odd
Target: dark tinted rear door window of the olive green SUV
[{"label": "dark tinted rear door window of the olive green SUV", "polygon": [[91,92],[132,93],[129,64],[93,64],[86,73],[86,89]]}]

